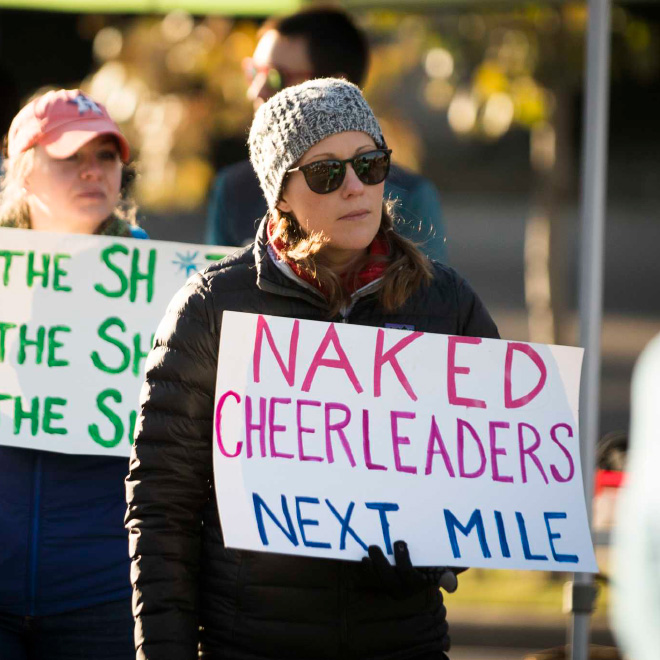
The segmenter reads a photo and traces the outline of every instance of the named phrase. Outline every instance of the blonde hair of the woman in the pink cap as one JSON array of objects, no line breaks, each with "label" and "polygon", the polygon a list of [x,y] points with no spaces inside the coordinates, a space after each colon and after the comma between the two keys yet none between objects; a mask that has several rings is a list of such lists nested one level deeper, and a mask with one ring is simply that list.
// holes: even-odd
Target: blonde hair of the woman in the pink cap
[{"label": "blonde hair of the woman in the pink cap", "polygon": [[[31,147],[13,158],[6,158],[2,163],[0,227],[31,228],[30,209],[26,201],[27,191],[23,182],[34,166],[34,153],[34,147]],[[110,216],[99,225],[97,233],[105,233],[104,229],[108,226],[137,224],[137,206],[129,192],[130,184],[134,178],[135,167],[132,164],[124,164],[122,166],[119,203]]]}]

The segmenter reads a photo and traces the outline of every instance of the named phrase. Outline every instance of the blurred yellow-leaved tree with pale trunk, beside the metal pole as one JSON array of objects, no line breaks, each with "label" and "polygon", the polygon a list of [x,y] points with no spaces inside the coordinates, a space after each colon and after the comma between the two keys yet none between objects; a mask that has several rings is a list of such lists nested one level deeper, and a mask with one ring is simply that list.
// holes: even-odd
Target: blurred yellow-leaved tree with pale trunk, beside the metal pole
[{"label": "blurred yellow-leaved tree with pale trunk, beside the metal pole", "polygon": [[[359,7],[359,2],[344,4]],[[393,3],[380,3],[394,6]],[[396,116],[406,78],[423,69],[420,96],[464,139],[496,142],[529,136],[532,208],[525,236],[529,338],[568,343],[564,322],[567,227],[559,207],[575,194],[579,144],[574,130],[583,86],[587,7],[529,3],[493,9],[478,3],[427,3],[419,15],[385,9],[363,15],[376,42],[367,85],[376,108]],[[643,82],[658,76],[658,24],[622,6],[613,14],[612,72]],[[419,166],[423,141],[411,145]],[[572,338],[571,338],[572,339]]]}]

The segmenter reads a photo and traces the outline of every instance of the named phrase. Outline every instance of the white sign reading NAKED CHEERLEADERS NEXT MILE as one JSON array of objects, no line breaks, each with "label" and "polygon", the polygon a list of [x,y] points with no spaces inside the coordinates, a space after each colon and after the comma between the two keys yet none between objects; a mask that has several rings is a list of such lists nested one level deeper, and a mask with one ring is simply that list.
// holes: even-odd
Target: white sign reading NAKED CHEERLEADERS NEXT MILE
[{"label": "white sign reading NAKED CHEERLEADERS NEXT MILE", "polygon": [[225,312],[215,486],[230,547],[594,572],[582,349]]}]

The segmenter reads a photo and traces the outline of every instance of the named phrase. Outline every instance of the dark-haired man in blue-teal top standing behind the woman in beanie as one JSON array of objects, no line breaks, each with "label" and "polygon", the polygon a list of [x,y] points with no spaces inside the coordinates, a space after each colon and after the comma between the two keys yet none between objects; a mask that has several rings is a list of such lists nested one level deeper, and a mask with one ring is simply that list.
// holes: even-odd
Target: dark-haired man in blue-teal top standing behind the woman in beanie
[{"label": "dark-haired man in blue-teal top standing behind the woman in beanie", "polygon": [[[338,77],[361,86],[369,64],[366,36],[343,11],[310,8],[271,19],[261,28],[254,55],[244,62],[248,98],[255,111],[273,94],[311,78]],[[446,263],[440,198],[426,178],[392,165],[385,197],[398,200],[397,231],[420,244],[432,259]],[[209,196],[206,241],[246,245],[266,213],[266,200],[249,161],[223,168]]]}]

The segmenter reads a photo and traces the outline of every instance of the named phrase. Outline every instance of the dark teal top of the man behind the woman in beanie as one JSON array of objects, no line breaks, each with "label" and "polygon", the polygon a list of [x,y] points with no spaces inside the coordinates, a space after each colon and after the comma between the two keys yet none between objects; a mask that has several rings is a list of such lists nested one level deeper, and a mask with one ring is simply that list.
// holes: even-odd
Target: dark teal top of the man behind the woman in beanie
[{"label": "dark teal top of the man behind the woman in beanie", "polygon": [[[385,199],[396,200],[398,231],[419,243],[428,257],[446,263],[440,196],[431,181],[393,164],[385,180]],[[266,199],[250,161],[228,165],[213,180],[206,216],[206,242],[235,246],[252,243],[266,210]]]}]

